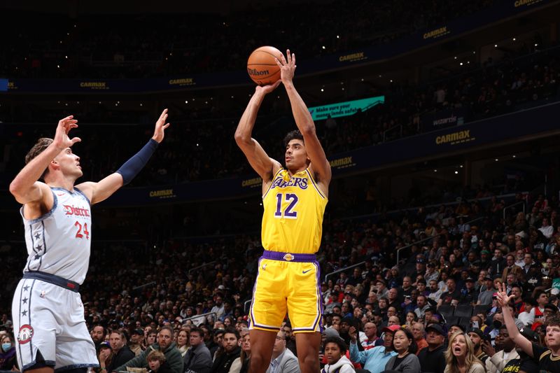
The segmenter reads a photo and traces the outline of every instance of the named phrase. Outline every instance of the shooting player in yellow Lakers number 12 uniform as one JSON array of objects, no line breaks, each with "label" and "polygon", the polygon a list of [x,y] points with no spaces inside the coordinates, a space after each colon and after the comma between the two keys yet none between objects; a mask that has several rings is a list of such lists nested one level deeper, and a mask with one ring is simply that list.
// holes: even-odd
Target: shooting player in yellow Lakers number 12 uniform
[{"label": "shooting player in yellow Lakers number 12 uniform", "polygon": [[[319,370],[322,304],[315,253],[321,244],[323,213],[330,183],[330,164],[321,147],[311,115],[295,90],[295,55],[287,51],[276,61],[281,80],[256,87],[239,120],[235,141],[262,178],[262,246],[251,305],[251,373],[267,370],[272,347],[286,310],[295,333],[302,373]],[[288,92],[299,131],[284,140],[286,168],[270,158],[251,138],[265,95],[279,83]]]}]

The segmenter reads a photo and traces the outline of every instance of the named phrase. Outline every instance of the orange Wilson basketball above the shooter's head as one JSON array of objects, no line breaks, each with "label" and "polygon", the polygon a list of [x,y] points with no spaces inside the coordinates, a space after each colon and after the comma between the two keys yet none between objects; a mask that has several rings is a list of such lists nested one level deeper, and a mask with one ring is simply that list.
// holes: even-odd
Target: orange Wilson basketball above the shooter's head
[{"label": "orange Wilson basketball above the shooter's head", "polygon": [[274,47],[260,47],[253,50],[247,60],[247,73],[258,85],[269,85],[280,78],[280,68],[274,58],[280,59],[282,52]]}]

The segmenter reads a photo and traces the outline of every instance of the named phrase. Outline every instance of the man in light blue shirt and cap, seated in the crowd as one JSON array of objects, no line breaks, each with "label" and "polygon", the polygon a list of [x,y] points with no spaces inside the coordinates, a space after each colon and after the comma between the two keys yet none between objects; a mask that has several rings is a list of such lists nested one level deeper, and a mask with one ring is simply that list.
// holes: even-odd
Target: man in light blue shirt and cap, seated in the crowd
[{"label": "man in light blue shirt and cap, seated in the crowd", "polygon": [[384,345],[374,347],[366,351],[358,350],[358,331],[356,328],[351,327],[350,334],[350,360],[353,363],[360,363],[363,369],[369,370],[370,373],[381,373],[385,370],[385,365],[397,353],[393,348],[393,336],[396,330],[399,330],[399,325],[391,325],[388,328],[383,328],[384,332]]}]

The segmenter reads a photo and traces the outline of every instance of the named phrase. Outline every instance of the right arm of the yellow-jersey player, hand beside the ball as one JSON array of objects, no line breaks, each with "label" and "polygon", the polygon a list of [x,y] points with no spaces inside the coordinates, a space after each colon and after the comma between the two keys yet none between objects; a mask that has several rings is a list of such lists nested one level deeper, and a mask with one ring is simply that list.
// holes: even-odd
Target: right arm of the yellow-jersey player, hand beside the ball
[{"label": "right arm of the yellow-jersey player, hand beside the ball", "polygon": [[325,155],[325,150],[321,146],[321,142],[317,137],[315,130],[315,123],[307,105],[305,105],[302,97],[293,85],[293,76],[295,74],[295,54],[290,53],[290,50],[286,50],[286,57],[283,55],[281,59],[276,59],[276,64],[280,67],[281,80],[286,87],[286,92],[288,93],[288,98],[290,99],[290,104],[292,106],[293,118],[295,119],[295,125],[300,129],[303,135],[303,141],[305,142],[305,149],[307,150],[307,155],[311,160],[311,167],[314,173],[318,175],[318,181],[328,185],[330,183],[330,178],[332,176],[330,171],[330,163]]}]

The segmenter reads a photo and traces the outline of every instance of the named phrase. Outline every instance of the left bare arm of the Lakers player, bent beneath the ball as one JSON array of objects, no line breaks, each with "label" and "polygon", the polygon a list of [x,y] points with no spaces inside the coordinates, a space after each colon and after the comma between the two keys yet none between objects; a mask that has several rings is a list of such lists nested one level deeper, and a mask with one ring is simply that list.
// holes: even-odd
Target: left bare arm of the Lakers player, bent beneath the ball
[{"label": "left bare arm of the Lakers player, bent beneath the ball", "polygon": [[265,96],[278,87],[280,80],[272,85],[265,85],[263,87],[256,87],[255,94],[251,97],[235,131],[235,142],[237,146],[243,151],[245,157],[251,167],[259,174],[262,181],[269,181],[274,176],[274,173],[281,165],[276,160],[270,158],[265,150],[260,146],[251,134],[257,119],[258,109]]}]

